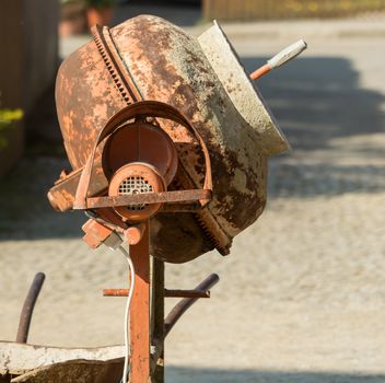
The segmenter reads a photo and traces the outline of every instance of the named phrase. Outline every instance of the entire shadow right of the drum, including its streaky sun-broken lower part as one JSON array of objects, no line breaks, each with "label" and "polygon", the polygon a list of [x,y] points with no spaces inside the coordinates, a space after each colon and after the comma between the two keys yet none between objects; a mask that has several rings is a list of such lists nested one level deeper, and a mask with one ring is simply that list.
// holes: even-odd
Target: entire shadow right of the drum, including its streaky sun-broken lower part
[{"label": "entire shadow right of the drum, including its streaky sun-broken lower part", "polygon": [[[242,59],[247,72],[267,58]],[[270,161],[270,194],[313,197],[385,189],[385,95],[351,61],[300,58],[258,81],[293,151]]]}]

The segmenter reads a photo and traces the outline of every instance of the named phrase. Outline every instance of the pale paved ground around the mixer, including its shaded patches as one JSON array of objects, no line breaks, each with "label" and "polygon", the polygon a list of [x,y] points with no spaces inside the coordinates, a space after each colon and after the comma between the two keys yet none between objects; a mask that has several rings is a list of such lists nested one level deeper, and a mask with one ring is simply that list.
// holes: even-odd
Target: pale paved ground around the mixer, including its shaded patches
[{"label": "pale paved ground around the mixer, including its shaded patches", "polygon": [[[270,161],[267,210],[231,256],[167,267],[170,287],[222,279],[170,336],[168,382],[385,382],[385,37],[341,25],[265,24],[275,38],[258,25],[231,32],[249,71],[307,38],[303,58],[259,83],[293,152]],[[124,260],[90,252],[83,218],[52,212],[44,197],[63,165],[33,156],[1,181],[0,339],[14,338],[43,270],[32,343],[121,343],[124,302],[100,291],[122,286]]]}]

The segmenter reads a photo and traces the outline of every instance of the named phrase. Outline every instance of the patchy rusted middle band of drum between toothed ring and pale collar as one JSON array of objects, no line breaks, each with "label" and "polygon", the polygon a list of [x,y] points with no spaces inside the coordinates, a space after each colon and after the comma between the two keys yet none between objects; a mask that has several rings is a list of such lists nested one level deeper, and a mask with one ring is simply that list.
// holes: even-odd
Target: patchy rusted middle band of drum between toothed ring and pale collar
[{"label": "patchy rusted middle band of drum between toothed ring and pale collar", "polygon": [[[259,135],[237,113],[198,42],[180,28],[139,16],[114,27],[112,35],[143,97],[179,109],[208,142],[214,190],[209,211],[228,235],[236,235],[255,221],[266,200],[266,159],[256,144]],[[162,127],[199,185],[202,159],[191,148],[189,132],[176,125]]]}]

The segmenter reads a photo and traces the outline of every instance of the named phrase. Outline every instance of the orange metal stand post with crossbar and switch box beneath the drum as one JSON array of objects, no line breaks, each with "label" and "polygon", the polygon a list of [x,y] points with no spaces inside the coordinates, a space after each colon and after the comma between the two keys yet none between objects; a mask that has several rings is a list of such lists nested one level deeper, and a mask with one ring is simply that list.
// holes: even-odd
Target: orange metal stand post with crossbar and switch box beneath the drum
[{"label": "orange metal stand post with crossbar and switch box beneath the drum", "polygon": [[[219,277],[210,275],[192,290],[164,288],[164,263],[150,256],[149,221],[125,230],[136,270],[130,305],[130,383],[164,383],[164,339],[179,317],[200,298],[210,298],[209,289]],[[109,243],[116,235],[100,222],[83,225],[84,240],[93,248]],[[152,272],[151,272],[152,271]],[[105,297],[127,297],[128,289],[105,289]],[[164,298],[183,298],[164,316]]]}]

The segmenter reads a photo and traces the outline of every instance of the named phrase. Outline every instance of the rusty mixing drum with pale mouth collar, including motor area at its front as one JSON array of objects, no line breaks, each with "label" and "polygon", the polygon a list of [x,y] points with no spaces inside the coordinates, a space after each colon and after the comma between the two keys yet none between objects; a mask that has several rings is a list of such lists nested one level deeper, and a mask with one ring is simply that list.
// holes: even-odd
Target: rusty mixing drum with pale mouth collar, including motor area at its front
[{"label": "rusty mixing drum with pale mouth collar, including motor area at its front", "polygon": [[[77,194],[86,199],[121,190],[212,189],[210,204],[200,199],[201,209],[152,206],[151,252],[170,263],[184,263],[213,248],[229,254],[232,239],[264,210],[267,159],[288,149],[234,48],[217,23],[198,38],[150,15],[92,31],[93,40],[63,61],[57,78],[58,118],[72,172],[62,173],[50,189],[52,206],[61,211],[77,208]],[[115,118],[104,135],[114,116],[143,101],[159,104],[151,104],[151,113],[142,107],[136,115]],[[159,152],[165,154],[156,158],[156,149],[143,148],[145,153],[139,155],[132,142],[139,144],[140,137],[152,142],[147,148],[160,146]],[[155,164],[143,171],[151,173],[153,184],[144,185],[144,176],[119,189],[131,174],[132,165],[127,164],[140,166],[143,158]],[[92,181],[80,193],[88,166]],[[117,172],[124,174],[118,181]],[[131,217],[126,217],[125,207],[95,211],[121,227]]]}]

